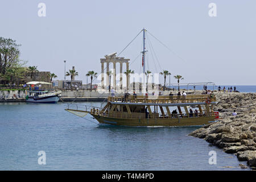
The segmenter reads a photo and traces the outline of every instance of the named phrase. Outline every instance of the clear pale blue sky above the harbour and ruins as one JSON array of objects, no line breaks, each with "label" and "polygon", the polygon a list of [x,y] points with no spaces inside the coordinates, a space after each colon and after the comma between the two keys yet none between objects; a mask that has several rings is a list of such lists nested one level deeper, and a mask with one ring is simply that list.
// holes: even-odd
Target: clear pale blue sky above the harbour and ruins
[{"label": "clear pale blue sky above the harbour and ruins", "polygon": [[[43,18],[40,2],[46,3]],[[208,15],[211,2],[217,5],[214,18]],[[67,69],[74,65],[79,72],[76,80],[86,82],[88,71],[101,72],[100,58],[120,52],[144,27],[175,52],[148,35],[160,62],[160,67],[156,59],[154,64],[146,47],[152,72],[167,69],[182,75],[183,82],[256,85],[255,7],[256,1],[249,0],[1,0],[0,36],[22,44],[20,58],[28,65],[63,80],[67,60]],[[121,56],[133,61],[141,43],[139,36]],[[141,60],[131,69],[141,72]]]}]

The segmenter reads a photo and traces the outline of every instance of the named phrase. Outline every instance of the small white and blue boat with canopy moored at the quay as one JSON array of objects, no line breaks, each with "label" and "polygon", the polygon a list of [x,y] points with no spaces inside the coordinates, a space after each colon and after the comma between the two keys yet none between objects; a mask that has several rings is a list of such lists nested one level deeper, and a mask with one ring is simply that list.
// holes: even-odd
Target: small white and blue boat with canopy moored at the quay
[{"label": "small white and blue boat with canopy moored at the quay", "polygon": [[[28,82],[27,85],[51,85],[48,82],[39,82],[39,81],[31,81]],[[61,91],[48,91],[48,90],[39,90],[39,87],[35,86],[34,89],[31,86],[29,90],[27,90],[26,94],[26,102],[36,102],[36,103],[56,103],[60,100]]]}]

